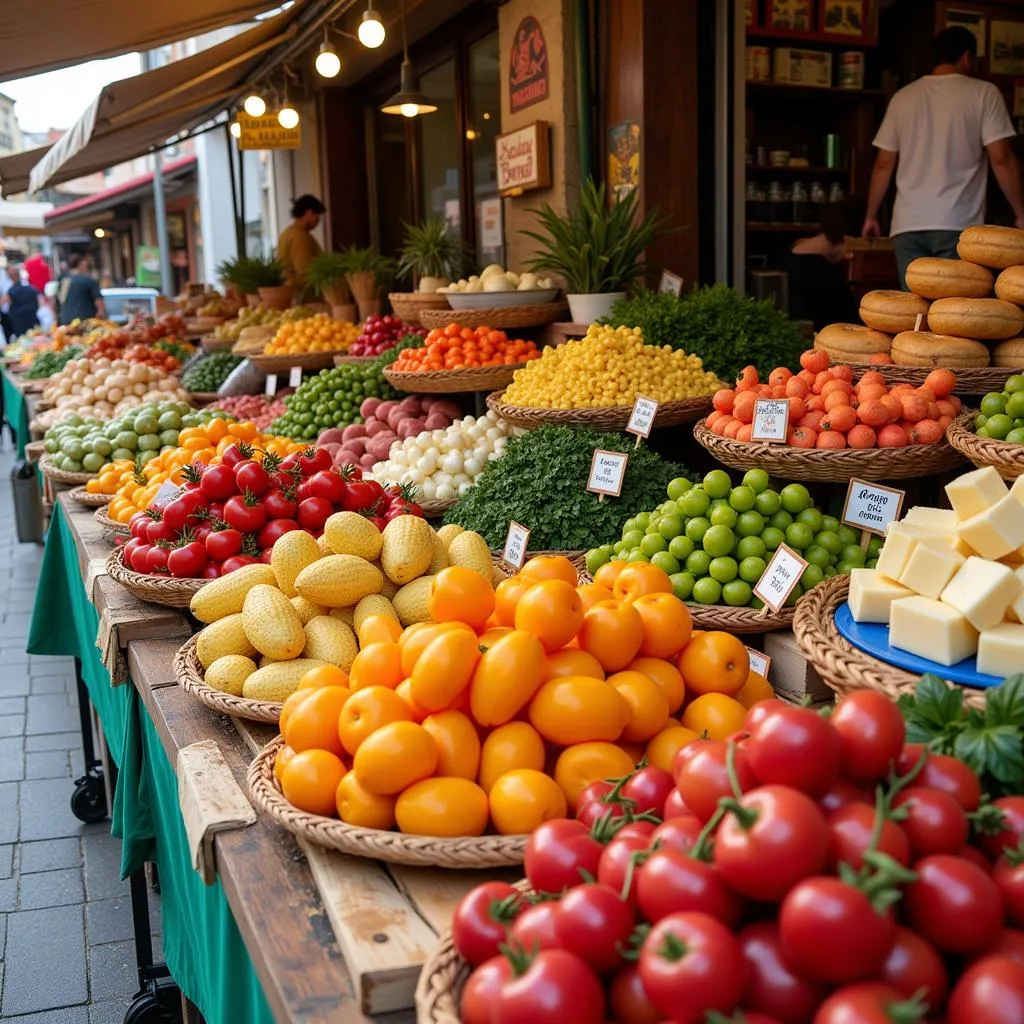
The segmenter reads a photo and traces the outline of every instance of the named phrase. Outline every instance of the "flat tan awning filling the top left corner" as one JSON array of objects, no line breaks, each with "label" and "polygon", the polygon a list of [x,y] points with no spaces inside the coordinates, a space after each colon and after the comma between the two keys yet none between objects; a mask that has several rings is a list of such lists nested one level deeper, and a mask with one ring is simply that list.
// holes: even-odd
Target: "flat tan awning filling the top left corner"
[{"label": "flat tan awning filling the top left corner", "polygon": [[152,50],[249,20],[281,0],[33,0],[4,4],[4,80]]}]

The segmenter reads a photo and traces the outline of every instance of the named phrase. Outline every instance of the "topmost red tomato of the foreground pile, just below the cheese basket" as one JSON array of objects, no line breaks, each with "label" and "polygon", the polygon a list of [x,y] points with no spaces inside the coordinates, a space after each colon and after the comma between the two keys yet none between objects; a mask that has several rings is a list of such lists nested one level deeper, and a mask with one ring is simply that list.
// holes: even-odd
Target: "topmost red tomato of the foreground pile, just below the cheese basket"
[{"label": "topmost red tomato of the foreground pile, just below the cheese basket", "polygon": [[844,778],[870,784],[888,777],[906,738],[903,715],[889,697],[855,690],[843,697],[829,721],[839,733]]}]

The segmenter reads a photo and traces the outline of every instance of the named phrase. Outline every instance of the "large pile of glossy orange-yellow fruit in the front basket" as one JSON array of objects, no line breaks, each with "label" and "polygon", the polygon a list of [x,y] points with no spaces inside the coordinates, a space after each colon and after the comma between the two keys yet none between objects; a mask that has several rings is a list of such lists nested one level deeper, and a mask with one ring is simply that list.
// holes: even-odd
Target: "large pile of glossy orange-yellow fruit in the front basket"
[{"label": "large pile of glossy orange-yellow fruit in the front basket", "polygon": [[285,701],[274,775],[294,806],[413,835],[522,835],[645,757],[671,769],[773,696],[742,642],[694,631],[646,563],[578,586],[545,555],[497,588],[452,566],[429,612],[404,630],[369,615],[349,672],[311,669]]}]

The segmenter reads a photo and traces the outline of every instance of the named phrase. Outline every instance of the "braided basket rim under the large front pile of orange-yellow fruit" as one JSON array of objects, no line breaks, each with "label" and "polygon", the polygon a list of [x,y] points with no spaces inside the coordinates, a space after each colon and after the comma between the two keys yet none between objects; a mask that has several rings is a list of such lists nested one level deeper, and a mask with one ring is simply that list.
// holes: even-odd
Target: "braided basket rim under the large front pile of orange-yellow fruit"
[{"label": "braided basket rim under the large front pile of orange-yellow fruit", "polygon": [[356,857],[414,867],[487,868],[522,863],[527,836],[472,836],[440,839],[407,836],[382,828],[346,825],[336,818],[307,814],[282,796],[273,777],[273,759],[284,737],[271,739],[249,766],[249,793],[255,806],[283,828],[310,843]]}]

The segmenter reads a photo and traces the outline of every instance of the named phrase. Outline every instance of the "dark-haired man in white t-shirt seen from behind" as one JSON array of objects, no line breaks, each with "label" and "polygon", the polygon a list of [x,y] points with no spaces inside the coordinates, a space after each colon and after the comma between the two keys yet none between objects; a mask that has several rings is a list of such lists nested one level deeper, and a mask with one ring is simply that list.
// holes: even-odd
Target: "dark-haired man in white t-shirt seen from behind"
[{"label": "dark-haired man in white t-shirt seen from behind", "polygon": [[956,26],[933,45],[934,71],[900,89],[874,136],[879,155],[867,196],[865,237],[878,236],[879,207],[896,173],[896,206],[890,236],[900,286],[919,256],[956,258],[956,240],[985,220],[991,166],[1024,227],[1021,169],[1010,140],[1016,134],[998,89],[971,78],[978,41]]}]

